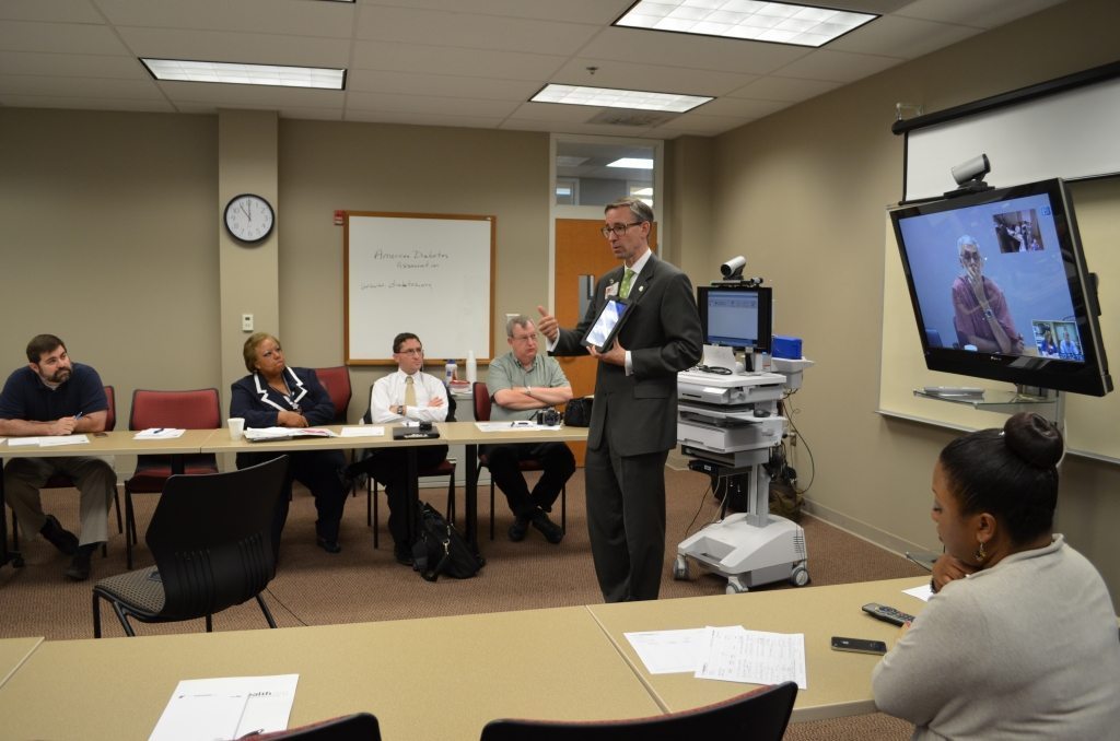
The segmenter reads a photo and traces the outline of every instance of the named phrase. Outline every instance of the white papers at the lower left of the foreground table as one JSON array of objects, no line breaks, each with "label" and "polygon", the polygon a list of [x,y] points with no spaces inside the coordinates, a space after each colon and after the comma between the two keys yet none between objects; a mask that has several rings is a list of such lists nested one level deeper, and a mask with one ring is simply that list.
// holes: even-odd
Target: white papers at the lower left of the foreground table
[{"label": "white papers at the lower left of the foreground table", "polygon": [[148,741],[240,739],[288,728],[298,674],[184,679]]}]

